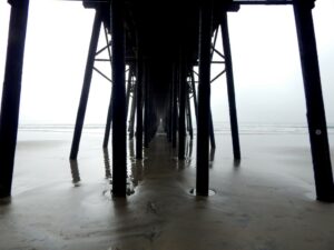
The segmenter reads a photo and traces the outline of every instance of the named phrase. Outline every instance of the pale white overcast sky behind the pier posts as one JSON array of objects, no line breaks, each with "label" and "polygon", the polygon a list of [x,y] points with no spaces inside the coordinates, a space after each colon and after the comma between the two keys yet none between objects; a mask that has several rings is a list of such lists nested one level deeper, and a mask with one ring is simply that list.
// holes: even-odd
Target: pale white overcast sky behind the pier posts
[{"label": "pale white overcast sky behind the pier posts", "polygon": [[[9,4],[0,2],[3,79]],[[334,123],[334,1],[314,9],[327,121]],[[21,96],[21,123],[73,123],[94,11],[80,2],[31,0]],[[305,123],[305,100],[292,7],[242,7],[228,14],[238,118],[242,122]],[[101,39],[100,46],[105,40]],[[218,39],[218,44],[222,39]],[[97,67],[110,70],[109,64]],[[220,66],[222,67],[222,66]],[[213,69],[213,77],[219,69]],[[213,83],[215,121],[228,121],[225,76]],[[2,86],[0,87],[1,91]],[[110,83],[94,74],[87,123],[104,123]],[[332,97],[331,97],[332,94]]]}]

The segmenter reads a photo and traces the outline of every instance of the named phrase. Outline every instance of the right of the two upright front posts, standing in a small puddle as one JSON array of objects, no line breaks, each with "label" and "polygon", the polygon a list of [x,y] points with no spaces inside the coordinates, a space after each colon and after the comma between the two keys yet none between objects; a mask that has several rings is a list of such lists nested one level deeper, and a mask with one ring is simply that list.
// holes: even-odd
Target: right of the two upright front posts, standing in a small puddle
[{"label": "right of the two upright front posts, standing in a small puddle", "polygon": [[203,0],[199,10],[199,86],[197,120],[196,193],[209,189],[209,112],[210,112],[210,34],[212,1]]}]

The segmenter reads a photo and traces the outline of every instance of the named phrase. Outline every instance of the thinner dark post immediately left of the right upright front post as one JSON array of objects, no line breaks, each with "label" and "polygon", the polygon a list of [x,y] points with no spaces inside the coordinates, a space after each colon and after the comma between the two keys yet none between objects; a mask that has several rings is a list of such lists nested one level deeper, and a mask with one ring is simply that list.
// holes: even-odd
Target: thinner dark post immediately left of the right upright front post
[{"label": "thinner dark post immediately left of the right upright front post", "polygon": [[185,67],[185,56],[180,51],[179,57],[179,118],[178,118],[178,159],[185,159],[186,151],[186,84],[187,84],[187,74]]}]

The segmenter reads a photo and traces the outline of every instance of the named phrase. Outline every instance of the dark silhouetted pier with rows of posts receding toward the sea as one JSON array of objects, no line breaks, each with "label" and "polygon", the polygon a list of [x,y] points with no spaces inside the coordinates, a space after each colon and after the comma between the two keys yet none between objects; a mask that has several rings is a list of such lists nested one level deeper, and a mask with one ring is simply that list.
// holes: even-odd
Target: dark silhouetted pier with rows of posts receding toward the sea
[{"label": "dark silhouetted pier with rows of posts receding toward the sea", "polygon": [[[21,71],[24,51],[29,1],[9,1],[11,4],[10,33],[8,41],[6,76],[3,82],[0,119],[0,196],[11,193],[13,159],[19,118]],[[112,131],[112,193],[126,196],[126,140],[128,116],[130,138],[136,133],[136,158],[143,158],[143,148],[149,148],[157,127],[164,123],[171,147],[178,149],[178,159],[185,158],[186,128],[189,134],[197,122],[197,179],[196,192],[207,196],[209,191],[208,156],[215,148],[215,133],[210,111],[210,66],[222,63],[226,74],[234,158],[242,159],[238,138],[236,98],[233,63],[228,38],[228,11],[238,11],[243,4],[293,4],[301,62],[305,86],[310,141],[314,164],[317,199],[333,201],[334,186],[330,159],[326,119],[322,97],[317,50],[312,9],[314,0],[307,1],[84,1],[85,8],[94,8],[96,18],[77,122],[73,132],[70,159],[76,160],[89,97],[91,74],[96,60],[97,42],[104,23],[105,32],[111,34],[108,50],[112,77],[105,76],[112,84],[104,147]],[[173,14],[173,19],[170,19]],[[158,29],[157,29],[158,27]],[[224,54],[222,62],[213,61],[217,30],[222,29]],[[128,78],[126,66],[129,68]],[[198,66],[199,71],[194,72]],[[97,70],[98,71],[98,70]],[[195,76],[198,74],[198,76]],[[198,92],[195,88],[198,81]],[[218,77],[218,76],[217,76]],[[126,88],[128,84],[128,88]],[[127,90],[127,92],[126,92]],[[132,104],[129,107],[129,99]],[[196,121],[191,121],[190,98],[194,99]],[[129,113],[129,114],[128,114]],[[136,120],[136,128],[135,128]]]}]

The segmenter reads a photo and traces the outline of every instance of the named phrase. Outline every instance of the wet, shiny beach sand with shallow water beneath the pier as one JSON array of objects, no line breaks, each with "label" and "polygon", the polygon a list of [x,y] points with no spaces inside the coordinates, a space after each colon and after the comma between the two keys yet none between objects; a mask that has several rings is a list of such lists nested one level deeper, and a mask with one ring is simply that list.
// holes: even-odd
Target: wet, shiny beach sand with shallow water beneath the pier
[{"label": "wet, shiny beach sand with shallow water beneath the pier", "polygon": [[242,134],[239,164],[229,136],[216,134],[209,198],[189,194],[196,141],[177,161],[158,136],[144,162],[129,142],[135,193],[112,199],[101,134],[82,136],[77,164],[68,161],[70,140],[71,133],[19,134],[13,197],[0,206],[0,249],[334,248],[334,204],[315,201],[307,134]]}]

